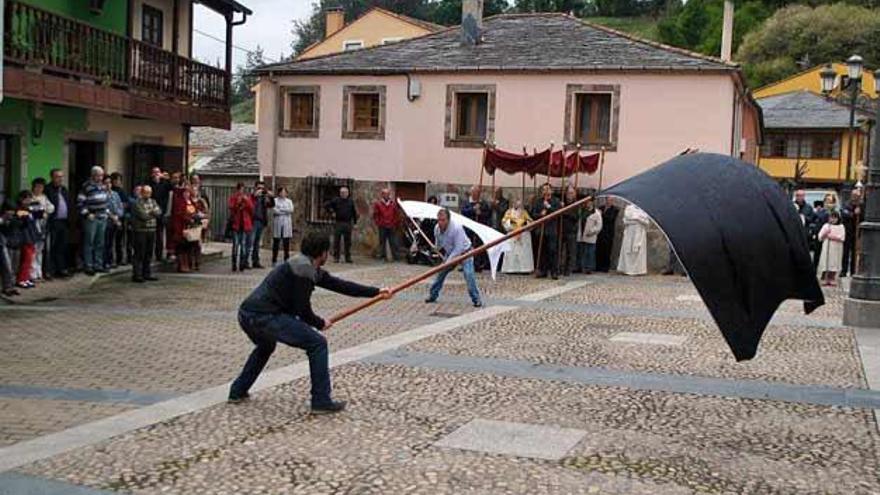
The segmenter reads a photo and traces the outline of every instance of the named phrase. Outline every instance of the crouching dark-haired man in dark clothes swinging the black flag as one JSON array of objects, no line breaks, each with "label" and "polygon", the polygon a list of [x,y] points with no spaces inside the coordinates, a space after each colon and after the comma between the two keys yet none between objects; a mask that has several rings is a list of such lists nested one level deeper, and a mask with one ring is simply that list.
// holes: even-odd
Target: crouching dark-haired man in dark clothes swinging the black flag
[{"label": "crouching dark-haired man in dark clothes swinging the black flag", "polygon": [[312,413],[326,414],[345,409],[344,401],[330,397],[330,370],[327,339],[321,331],[332,322],[312,311],[315,286],[352,297],[390,298],[388,289],[379,289],[338,279],[321,267],[327,262],[330,238],[309,232],[302,241],[302,254],[276,266],[263,282],[241,303],[238,322],[248,338],[257,346],[244,369],[232,383],[229,401],[240,402],[249,397],[248,390],[275,351],[277,342],[303,349],[309,357],[312,382]]}]

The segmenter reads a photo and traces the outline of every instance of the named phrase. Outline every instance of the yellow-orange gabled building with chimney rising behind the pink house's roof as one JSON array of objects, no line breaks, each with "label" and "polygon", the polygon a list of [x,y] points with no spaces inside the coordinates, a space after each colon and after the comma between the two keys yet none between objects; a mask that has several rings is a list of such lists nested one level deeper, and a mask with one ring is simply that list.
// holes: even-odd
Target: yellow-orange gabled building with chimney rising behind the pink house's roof
[{"label": "yellow-orange gabled building with chimney rising behind the pink house's roof", "polygon": [[342,9],[328,9],[326,16],[324,39],[303,50],[297,59],[384,45],[444,29],[443,26],[379,7],[373,7],[348,25],[345,24],[345,11]]}]

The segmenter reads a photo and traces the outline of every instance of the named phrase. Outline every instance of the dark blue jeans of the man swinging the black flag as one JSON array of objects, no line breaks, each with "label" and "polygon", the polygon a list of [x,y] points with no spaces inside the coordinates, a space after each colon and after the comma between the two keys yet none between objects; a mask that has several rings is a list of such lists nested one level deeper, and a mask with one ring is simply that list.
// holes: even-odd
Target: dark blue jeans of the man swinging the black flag
[{"label": "dark blue jeans of the man swinging the black flag", "polygon": [[230,397],[241,397],[257,380],[281,342],[306,351],[312,381],[312,405],[330,403],[330,370],[327,339],[321,332],[288,314],[252,313],[238,311],[238,323],[257,347],[251,352],[238,378],[232,382]]}]

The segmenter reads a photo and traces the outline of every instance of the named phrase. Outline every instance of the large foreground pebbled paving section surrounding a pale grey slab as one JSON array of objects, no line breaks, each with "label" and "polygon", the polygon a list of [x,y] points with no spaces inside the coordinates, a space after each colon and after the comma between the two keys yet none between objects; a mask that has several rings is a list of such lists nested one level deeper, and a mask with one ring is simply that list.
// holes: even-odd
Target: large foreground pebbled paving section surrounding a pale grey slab
[{"label": "large foreground pebbled paving section surrounding a pale grey slab", "polygon": [[[864,410],[405,366],[347,365],[335,378],[351,401],[341,415],[308,416],[297,380],[21,471],[131,493],[880,490]],[[587,434],[559,461],[433,445],[475,419]]]}]

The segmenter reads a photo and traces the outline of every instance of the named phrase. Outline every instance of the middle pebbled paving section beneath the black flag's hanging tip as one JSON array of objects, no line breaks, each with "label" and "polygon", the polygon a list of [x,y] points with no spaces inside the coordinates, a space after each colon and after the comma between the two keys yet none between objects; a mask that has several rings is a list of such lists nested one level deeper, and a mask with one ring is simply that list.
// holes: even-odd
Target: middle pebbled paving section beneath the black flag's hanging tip
[{"label": "middle pebbled paving section beneath the black flag's hanging tip", "polygon": [[[680,347],[662,348],[610,340],[635,329],[687,340]],[[407,350],[610,370],[866,386],[853,333],[847,328],[772,326],[758,355],[738,363],[717,327],[707,321],[530,308],[418,342]]]}]

